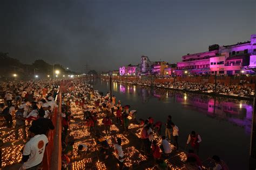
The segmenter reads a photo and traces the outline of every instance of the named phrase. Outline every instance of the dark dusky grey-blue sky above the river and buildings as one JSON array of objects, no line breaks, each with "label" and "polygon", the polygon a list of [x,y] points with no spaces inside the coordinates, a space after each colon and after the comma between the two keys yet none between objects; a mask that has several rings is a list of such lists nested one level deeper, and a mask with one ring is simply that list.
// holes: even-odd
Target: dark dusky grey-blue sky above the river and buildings
[{"label": "dark dusky grey-blue sky above the river and buildings", "polygon": [[1,1],[0,51],[78,72],[109,70],[140,56],[178,62],[208,45],[256,33],[255,0]]}]

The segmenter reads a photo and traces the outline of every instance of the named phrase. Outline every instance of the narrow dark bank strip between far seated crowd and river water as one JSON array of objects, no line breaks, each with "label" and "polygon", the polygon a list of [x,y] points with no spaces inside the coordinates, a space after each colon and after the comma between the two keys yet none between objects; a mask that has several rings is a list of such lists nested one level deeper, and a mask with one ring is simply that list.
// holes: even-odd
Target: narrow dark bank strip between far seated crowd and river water
[{"label": "narrow dark bank strip between far seated crowd and river water", "polygon": [[237,100],[248,100],[253,101],[254,96],[238,96],[238,95],[229,95],[229,94],[215,94],[214,92],[203,92],[199,90],[186,90],[186,89],[176,89],[176,88],[169,88],[164,86],[152,86],[151,84],[142,84],[142,83],[133,83],[133,82],[124,82],[124,81],[113,81],[117,83],[124,83],[124,84],[132,84],[134,86],[144,86],[144,87],[152,87],[152,88],[160,88],[160,89],[166,89],[166,90],[173,90],[173,91],[183,91],[185,93],[194,93],[194,94],[201,94],[201,95],[207,95],[212,97],[225,97],[225,98],[234,98]]}]

